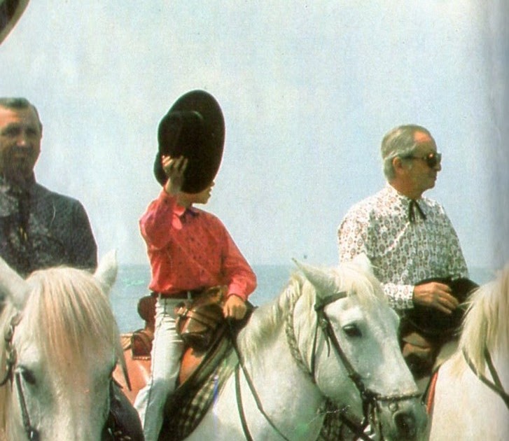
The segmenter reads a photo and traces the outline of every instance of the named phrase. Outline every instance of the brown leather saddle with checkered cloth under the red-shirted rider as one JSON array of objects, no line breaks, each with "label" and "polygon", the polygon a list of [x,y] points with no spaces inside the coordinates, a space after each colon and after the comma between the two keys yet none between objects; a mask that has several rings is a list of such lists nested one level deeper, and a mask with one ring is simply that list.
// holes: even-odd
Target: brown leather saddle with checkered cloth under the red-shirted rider
[{"label": "brown leather saddle with checkered cloth under the red-shirted rider", "polygon": [[247,302],[242,321],[225,321],[225,287],[210,288],[192,302],[176,307],[176,329],[187,349],[183,353],[179,384],[165,405],[160,441],[183,440],[197,427],[217,391],[237,363],[233,340],[253,311]]}]

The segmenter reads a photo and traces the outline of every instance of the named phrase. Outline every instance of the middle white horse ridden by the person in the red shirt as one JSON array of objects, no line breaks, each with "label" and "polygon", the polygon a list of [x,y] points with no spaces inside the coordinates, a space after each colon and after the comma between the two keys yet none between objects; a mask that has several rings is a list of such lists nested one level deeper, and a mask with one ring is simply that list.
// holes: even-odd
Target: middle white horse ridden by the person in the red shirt
[{"label": "middle white horse ridden by the person in the red shirt", "polygon": [[316,440],[331,411],[369,416],[379,439],[417,439],[426,412],[379,282],[358,262],[298,265],[303,275],[239,332],[236,372],[187,439]]}]

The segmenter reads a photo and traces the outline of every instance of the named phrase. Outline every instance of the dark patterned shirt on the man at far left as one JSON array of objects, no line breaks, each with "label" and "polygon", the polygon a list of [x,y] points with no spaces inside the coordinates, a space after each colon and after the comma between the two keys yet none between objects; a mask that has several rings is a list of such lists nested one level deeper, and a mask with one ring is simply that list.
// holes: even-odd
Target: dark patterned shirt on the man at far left
[{"label": "dark patterned shirt on the man at far left", "polygon": [[22,276],[58,265],[97,267],[97,246],[81,203],[35,179],[20,189],[0,176],[0,255]]}]

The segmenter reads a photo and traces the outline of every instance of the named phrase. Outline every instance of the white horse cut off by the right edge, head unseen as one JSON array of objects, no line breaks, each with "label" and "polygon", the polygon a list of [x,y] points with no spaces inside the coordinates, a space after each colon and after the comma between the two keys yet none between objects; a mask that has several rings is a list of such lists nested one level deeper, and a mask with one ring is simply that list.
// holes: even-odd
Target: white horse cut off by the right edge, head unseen
[{"label": "white horse cut off by the right edge, head unseen", "polygon": [[469,302],[459,348],[440,367],[431,387],[430,440],[506,441],[509,265],[495,281],[478,288]]}]

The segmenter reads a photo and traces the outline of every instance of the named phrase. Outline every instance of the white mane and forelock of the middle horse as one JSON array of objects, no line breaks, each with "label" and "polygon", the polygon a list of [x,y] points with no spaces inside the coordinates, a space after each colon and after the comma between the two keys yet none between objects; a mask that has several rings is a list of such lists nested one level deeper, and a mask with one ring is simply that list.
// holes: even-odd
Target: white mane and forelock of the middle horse
[{"label": "white mane and forelock of the middle horse", "polygon": [[[372,272],[358,262],[344,262],[338,267],[325,267],[320,271],[335,279],[337,291],[345,291],[347,295],[357,295],[358,300],[364,307],[372,307],[379,302],[386,302],[382,286]],[[333,295],[331,291],[326,295]],[[245,338],[242,342],[242,352],[246,358],[256,356],[256,351],[263,345],[284,322],[291,304],[295,304],[300,297],[305,300],[307,310],[314,314],[313,304],[316,301],[316,290],[300,272],[291,274],[286,287],[279,297],[270,304],[258,308],[257,314],[253,314],[249,329],[246,329]],[[378,303],[377,303],[378,302]],[[313,317],[309,317],[312,320]]]}]

